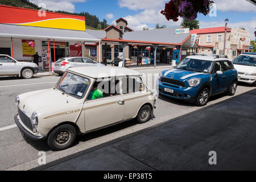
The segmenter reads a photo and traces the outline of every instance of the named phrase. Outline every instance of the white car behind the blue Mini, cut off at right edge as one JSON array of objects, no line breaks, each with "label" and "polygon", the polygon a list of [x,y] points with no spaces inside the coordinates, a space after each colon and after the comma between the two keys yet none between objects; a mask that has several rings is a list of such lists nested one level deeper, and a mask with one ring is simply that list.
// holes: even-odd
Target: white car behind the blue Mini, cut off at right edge
[{"label": "white car behind the blue Mini, cut off at right edge", "polygon": [[245,52],[233,60],[238,72],[238,81],[256,86],[256,53]]}]

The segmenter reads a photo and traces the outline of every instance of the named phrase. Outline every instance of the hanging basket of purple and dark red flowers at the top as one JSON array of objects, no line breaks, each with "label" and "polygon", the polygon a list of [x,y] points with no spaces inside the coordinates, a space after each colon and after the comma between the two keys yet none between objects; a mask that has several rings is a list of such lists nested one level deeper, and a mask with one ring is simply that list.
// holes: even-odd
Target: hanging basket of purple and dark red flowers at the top
[{"label": "hanging basket of purple and dark red flowers at the top", "polygon": [[207,15],[211,3],[211,0],[171,0],[160,13],[166,16],[167,20],[172,19],[174,22],[179,20],[179,16],[192,21],[197,18],[198,13]]}]

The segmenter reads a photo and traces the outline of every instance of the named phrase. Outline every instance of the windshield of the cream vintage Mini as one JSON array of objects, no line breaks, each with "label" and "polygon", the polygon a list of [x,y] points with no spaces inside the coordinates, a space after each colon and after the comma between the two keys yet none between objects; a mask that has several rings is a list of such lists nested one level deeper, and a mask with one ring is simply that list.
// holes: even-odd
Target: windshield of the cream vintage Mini
[{"label": "windshield of the cream vintage Mini", "polygon": [[71,96],[82,98],[86,93],[90,85],[90,80],[72,73],[65,73],[59,84],[56,86],[57,89]]}]

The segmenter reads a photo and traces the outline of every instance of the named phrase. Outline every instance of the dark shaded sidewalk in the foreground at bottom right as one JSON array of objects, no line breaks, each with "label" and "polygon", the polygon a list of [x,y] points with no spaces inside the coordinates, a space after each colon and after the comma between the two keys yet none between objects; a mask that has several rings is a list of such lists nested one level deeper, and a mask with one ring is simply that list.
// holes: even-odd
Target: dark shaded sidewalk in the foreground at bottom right
[{"label": "dark shaded sidewalk in the foreground at bottom right", "polygon": [[32,170],[255,170],[255,101],[256,89]]}]

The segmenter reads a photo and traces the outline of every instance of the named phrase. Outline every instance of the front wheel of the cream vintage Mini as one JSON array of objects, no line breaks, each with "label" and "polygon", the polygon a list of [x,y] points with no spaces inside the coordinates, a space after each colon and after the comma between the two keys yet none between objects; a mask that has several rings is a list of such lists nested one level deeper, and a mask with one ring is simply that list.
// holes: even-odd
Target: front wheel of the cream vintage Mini
[{"label": "front wheel of the cream vintage Mini", "polygon": [[76,129],[72,125],[60,125],[52,130],[47,138],[48,146],[53,150],[64,150],[76,140]]}]

